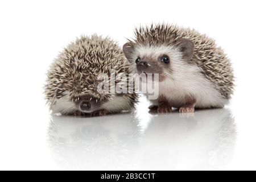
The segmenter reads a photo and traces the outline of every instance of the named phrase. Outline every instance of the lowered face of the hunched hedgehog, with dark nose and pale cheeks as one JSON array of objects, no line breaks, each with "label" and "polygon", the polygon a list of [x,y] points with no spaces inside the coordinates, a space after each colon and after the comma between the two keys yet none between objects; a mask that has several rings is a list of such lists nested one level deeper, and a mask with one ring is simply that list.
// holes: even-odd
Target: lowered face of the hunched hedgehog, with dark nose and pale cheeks
[{"label": "lowered face of the hunched hedgehog, with dark nose and pale cheeks", "polygon": [[[73,114],[77,111],[93,113],[98,110],[129,110],[133,107],[134,101],[131,94],[110,93],[106,90],[106,85],[102,85],[103,80],[98,80],[96,77],[96,75],[90,75],[89,79],[88,77],[80,79],[80,77],[69,76],[65,80],[60,79],[57,82],[59,84],[55,86],[56,91],[51,92],[54,93],[51,101],[53,113]],[[105,83],[109,84],[110,90],[110,80]],[[117,78],[114,86],[118,83]]]}]

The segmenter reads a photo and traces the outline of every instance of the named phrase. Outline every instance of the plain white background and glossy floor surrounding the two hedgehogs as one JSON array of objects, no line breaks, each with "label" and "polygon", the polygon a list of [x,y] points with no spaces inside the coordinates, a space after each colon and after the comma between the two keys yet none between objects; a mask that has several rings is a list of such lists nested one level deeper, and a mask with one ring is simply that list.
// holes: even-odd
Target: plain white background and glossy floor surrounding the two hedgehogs
[{"label": "plain white background and glossy floor surrounding the two hedgehogs", "polygon": [[[0,169],[256,169],[255,1],[1,1]],[[168,22],[216,39],[236,92],[222,110],[67,118],[49,114],[46,72],[80,35],[122,46],[135,26]],[[131,117],[134,118],[131,118]],[[224,124],[225,123],[225,124]]]}]

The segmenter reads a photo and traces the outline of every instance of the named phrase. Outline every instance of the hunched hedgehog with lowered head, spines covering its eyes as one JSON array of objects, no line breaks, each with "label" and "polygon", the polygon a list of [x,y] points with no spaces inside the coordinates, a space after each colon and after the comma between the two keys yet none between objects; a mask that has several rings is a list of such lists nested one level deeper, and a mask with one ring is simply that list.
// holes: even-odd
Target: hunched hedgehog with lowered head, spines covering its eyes
[{"label": "hunched hedgehog with lowered head, spines covering its eyes", "polygon": [[[97,116],[134,109],[136,93],[103,92],[110,86],[105,88],[102,82],[114,79],[114,88],[123,83],[110,76],[112,71],[125,76],[131,72],[131,64],[114,40],[96,34],[77,38],[60,52],[47,73],[44,93],[50,110],[63,115]],[[99,79],[104,74],[104,80]]]}]

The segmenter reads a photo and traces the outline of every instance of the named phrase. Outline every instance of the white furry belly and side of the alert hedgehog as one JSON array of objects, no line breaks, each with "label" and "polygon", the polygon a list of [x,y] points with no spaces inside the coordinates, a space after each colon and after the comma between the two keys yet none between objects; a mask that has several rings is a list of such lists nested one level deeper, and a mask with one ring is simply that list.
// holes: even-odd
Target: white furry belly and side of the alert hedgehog
[{"label": "white furry belly and side of the alert hedgehog", "polygon": [[164,96],[173,107],[186,104],[185,97],[193,96],[196,99],[195,107],[223,107],[228,100],[214,88],[213,84],[203,76],[197,75],[189,80],[165,80],[159,83],[159,97]]}]

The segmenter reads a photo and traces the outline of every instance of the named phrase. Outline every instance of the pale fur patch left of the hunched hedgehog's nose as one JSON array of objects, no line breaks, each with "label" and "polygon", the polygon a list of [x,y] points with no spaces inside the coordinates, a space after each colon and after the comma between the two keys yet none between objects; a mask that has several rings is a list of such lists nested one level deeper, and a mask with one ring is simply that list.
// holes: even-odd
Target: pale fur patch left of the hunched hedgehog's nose
[{"label": "pale fur patch left of the hunched hedgehog's nose", "polygon": [[55,105],[52,106],[52,113],[69,114],[76,110],[74,102],[69,100],[69,94],[64,94],[65,96],[59,98]]}]

